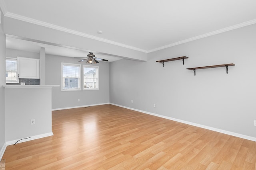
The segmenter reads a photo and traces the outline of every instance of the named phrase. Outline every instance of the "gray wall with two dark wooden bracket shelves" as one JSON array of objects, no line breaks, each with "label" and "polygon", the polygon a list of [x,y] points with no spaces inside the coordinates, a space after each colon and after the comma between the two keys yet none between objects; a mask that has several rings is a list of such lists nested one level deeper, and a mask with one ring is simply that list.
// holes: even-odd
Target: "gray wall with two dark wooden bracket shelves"
[{"label": "gray wall with two dark wooden bracket shelves", "polygon": [[[110,63],[110,102],[256,137],[256,24]],[[187,56],[165,66],[156,61]],[[186,68],[234,63],[228,68]],[[133,100],[133,103],[131,103]],[[156,104],[156,107],[153,107]]]}]

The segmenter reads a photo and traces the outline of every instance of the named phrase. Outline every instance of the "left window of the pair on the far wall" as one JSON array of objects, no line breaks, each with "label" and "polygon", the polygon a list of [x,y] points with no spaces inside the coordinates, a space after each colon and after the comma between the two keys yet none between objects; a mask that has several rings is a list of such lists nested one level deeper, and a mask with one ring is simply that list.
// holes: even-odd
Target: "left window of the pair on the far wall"
[{"label": "left window of the pair on the far wall", "polygon": [[62,91],[80,90],[80,64],[62,63]]}]

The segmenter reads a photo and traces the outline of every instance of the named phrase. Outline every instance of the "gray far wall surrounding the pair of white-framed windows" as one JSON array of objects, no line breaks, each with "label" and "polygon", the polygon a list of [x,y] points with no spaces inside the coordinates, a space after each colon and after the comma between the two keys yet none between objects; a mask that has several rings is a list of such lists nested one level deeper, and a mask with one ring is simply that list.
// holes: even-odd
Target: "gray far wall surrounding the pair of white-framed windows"
[{"label": "gray far wall surrounding the pair of white-framed windows", "polygon": [[99,90],[61,91],[61,63],[87,64],[78,61],[70,57],[46,55],[46,84],[60,85],[52,88],[52,109],[109,103],[109,63],[106,62],[95,64],[99,66]]}]

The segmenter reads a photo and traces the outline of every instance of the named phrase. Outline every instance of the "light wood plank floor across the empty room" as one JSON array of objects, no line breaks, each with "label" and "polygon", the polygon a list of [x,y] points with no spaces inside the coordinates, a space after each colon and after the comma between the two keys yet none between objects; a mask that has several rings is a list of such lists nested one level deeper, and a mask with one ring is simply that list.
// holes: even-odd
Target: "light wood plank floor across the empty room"
[{"label": "light wood plank floor across the empty room", "polygon": [[113,105],[53,111],[52,131],[8,146],[6,170],[256,170],[256,142]]}]

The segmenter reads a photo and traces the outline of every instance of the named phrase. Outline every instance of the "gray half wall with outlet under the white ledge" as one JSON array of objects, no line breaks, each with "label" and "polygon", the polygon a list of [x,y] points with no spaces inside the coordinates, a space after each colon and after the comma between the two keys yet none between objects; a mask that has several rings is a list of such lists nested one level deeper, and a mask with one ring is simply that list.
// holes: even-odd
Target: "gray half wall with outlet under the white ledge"
[{"label": "gray half wall with outlet under the white ledge", "polygon": [[52,135],[51,105],[51,88],[5,88],[6,141]]}]

